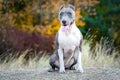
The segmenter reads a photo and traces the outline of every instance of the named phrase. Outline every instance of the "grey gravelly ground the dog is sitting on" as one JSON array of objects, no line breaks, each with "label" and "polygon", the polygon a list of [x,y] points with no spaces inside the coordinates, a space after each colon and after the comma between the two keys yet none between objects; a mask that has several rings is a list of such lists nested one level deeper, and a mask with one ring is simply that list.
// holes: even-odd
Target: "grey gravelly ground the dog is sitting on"
[{"label": "grey gravelly ground the dog is sitting on", "polygon": [[42,69],[12,69],[0,70],[0,80],[120,80],[118,68],[84,68],[79,74],[74,70],[67,70],[60,74],[58,71],[47,72]]}]

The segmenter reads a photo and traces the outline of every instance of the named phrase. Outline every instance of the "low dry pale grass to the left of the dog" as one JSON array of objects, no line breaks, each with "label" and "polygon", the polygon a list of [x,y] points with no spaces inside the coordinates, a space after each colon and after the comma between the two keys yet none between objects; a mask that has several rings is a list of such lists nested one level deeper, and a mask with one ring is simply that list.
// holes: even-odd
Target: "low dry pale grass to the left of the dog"
[{"label": "low dry pale grass to the left of the dog", "polygon": [[9,61],[5,60],[0,64],[0,69],[34,69],[48,66],[49,57],[45,55],[42,55],[39,60],[37,60],[38,57],[36,56],[35,58],[30,58],[26,61],[25,56],[29,51],[30,50],[24,51],[18,58],[13,59],[13,57],[11,57]]}]

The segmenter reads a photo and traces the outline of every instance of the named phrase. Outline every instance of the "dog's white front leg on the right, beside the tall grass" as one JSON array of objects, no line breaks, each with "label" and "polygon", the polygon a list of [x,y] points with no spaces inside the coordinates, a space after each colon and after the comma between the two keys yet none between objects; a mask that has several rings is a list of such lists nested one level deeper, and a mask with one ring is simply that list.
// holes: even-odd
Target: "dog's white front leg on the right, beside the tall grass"
[{"label": "dog's white front leg on the right, beside the tall grass", "polygon": [[79,73],[83,73],[83,68],[82,68],[82,64],[81,64],[81,51],[79,48],[77,48],[78,56],[77,56],[77,69],[76,71]]}]

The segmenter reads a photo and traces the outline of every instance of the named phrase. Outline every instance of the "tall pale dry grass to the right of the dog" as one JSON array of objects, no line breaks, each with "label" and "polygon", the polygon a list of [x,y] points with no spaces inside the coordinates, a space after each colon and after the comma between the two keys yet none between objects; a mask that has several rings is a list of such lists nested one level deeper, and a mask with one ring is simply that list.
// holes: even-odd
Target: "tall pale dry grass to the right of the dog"
[{"label": "tall pale dry grass to the right of the dog", "polygon": [[118,52],[113,48],[113,42],[107,41],[106,38],[101,39],[100,44],[97,44],[91,49],[90,43],[84,40],[82,64],[85,67],[120,67],[120,56],[116,58]]}]

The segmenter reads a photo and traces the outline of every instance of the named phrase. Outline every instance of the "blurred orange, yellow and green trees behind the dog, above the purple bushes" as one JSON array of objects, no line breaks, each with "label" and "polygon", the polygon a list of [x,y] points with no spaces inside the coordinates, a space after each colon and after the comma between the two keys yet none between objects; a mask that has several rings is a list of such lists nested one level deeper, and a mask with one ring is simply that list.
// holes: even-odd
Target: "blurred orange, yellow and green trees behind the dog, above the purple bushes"
[{"label": "blurred orange, yellow and green trees behind the dog, above the purple bushes", "polygon": [[63,4],[75,6],[76,24],[83,35],[90,29],[88,34],[97,36],[95,43],[103,36],[120,45],[120,0],[0,0],[0,26],[15,26],[45,37],[55,35],[60,27],[58,10]]}]

